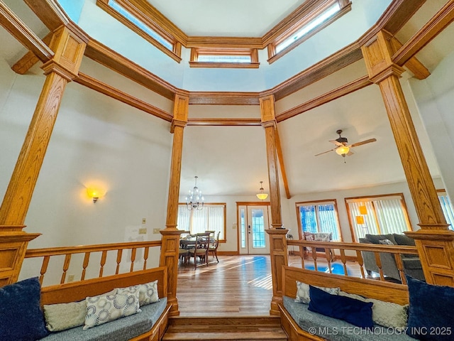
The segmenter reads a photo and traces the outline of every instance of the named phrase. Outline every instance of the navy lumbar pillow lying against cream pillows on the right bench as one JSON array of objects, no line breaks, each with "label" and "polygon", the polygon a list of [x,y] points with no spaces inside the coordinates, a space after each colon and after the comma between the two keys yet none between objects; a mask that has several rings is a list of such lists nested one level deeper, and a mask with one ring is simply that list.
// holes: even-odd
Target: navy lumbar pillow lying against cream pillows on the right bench
[{"label": "navy lumbar pillow lying against cream pillows on the right bench", "polygon": [[331,295],[309,286],[309,310],[344,320],[361,328],[372,328],[372,302],[362,302],[346,296]]}]

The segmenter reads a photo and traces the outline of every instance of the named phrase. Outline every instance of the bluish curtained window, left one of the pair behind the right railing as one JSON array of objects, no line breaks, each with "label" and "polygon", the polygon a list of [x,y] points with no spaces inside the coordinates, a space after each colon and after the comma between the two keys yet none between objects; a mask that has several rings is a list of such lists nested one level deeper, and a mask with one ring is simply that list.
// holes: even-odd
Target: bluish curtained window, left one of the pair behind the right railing
[{"label": "bluish curtained window, left one of the pair behind the right railing", "polygon": [[336,200],[297,202],[299,237],[303,232],[333,232],[333,242],[341,241]]}]

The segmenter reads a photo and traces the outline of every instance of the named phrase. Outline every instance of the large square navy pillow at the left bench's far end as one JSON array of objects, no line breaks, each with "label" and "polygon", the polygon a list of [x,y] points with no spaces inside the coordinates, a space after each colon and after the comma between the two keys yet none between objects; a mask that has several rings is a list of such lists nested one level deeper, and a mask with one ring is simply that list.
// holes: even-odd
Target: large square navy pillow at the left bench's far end
[{"label": "large square navy pillow at the left bench's far end", "polygon": [[31,341],[48,335],[40,291],[38,277],[0,288],[0,340]]}]

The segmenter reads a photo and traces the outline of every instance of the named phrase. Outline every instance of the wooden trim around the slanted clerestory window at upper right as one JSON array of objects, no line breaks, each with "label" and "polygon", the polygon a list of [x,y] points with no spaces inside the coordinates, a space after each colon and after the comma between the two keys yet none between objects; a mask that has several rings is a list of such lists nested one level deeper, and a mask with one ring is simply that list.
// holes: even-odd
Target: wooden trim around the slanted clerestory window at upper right
[{"label": "wooden trim around the slanted clerestory window at upper right", "polygon": [[[326,11],[329,7],[333,6],[334,4],[339,4],[341,7],[341,10],[338,11],[334,16],[329,18],[327,21],[322,23],[321,25],[317,26],[314,28],[312,31],[309,33],[306,33],[303,37],[299,38],[295,43],[292,43],[291,45],[287,46],[287,48],[284,48],[284,50],[280,51],[279,53],[276,53],[276,47],[280,43],[282,43],[285,39],[289,38],[297,32],[300,28],[305,26],[307,23],[312,21],[314,18],[319,16],[323,11]],[[267,45],[267,50],[268,50],[268,63],[272,64],[279,58],[281,58],[283,55],[286,55],[289,53],[291,50],[294,48],[297,48],[297,46],[301,45],[301,43],[304,43],[304,41],[308,40],[311,38],[311,36],[314,36],[316,33],[319,31],[323,30],[323,28],[326,28],[326,26],[329,26],[331,23],[334,21],[338,20],[338,18],[341,18],[345,13],[348,13],[348,11],[351,10],[351,1],[350,0],[313,0],[309,1],[308,4],[302,5],[300,8],[301,13],[298,15],[294,16],[292,21],[289,21],[285,26],[277,28],[277,31],[267,33],[264,37],[264,42],[265,45]]]}]

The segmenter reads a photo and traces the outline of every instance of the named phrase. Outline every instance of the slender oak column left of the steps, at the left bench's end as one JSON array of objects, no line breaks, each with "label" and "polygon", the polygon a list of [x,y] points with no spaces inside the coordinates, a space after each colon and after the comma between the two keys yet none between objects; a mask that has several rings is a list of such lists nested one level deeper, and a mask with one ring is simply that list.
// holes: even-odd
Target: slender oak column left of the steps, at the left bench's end
[{"label": "slender oak column left of the steps, at the left bench's end", "polygon": [[170,132],[173,133],[172,164],[170,166],[169,196],[167,198],[167,218],[162,234],[160,266],[167,266],[167,301],[172,303],[170,315],[179,315],[177,300],[178,249],[181,231],[177,229],[179,179],[182,171],[183,131],[187,124],[189,96],[175,94],[173,120]]}]

